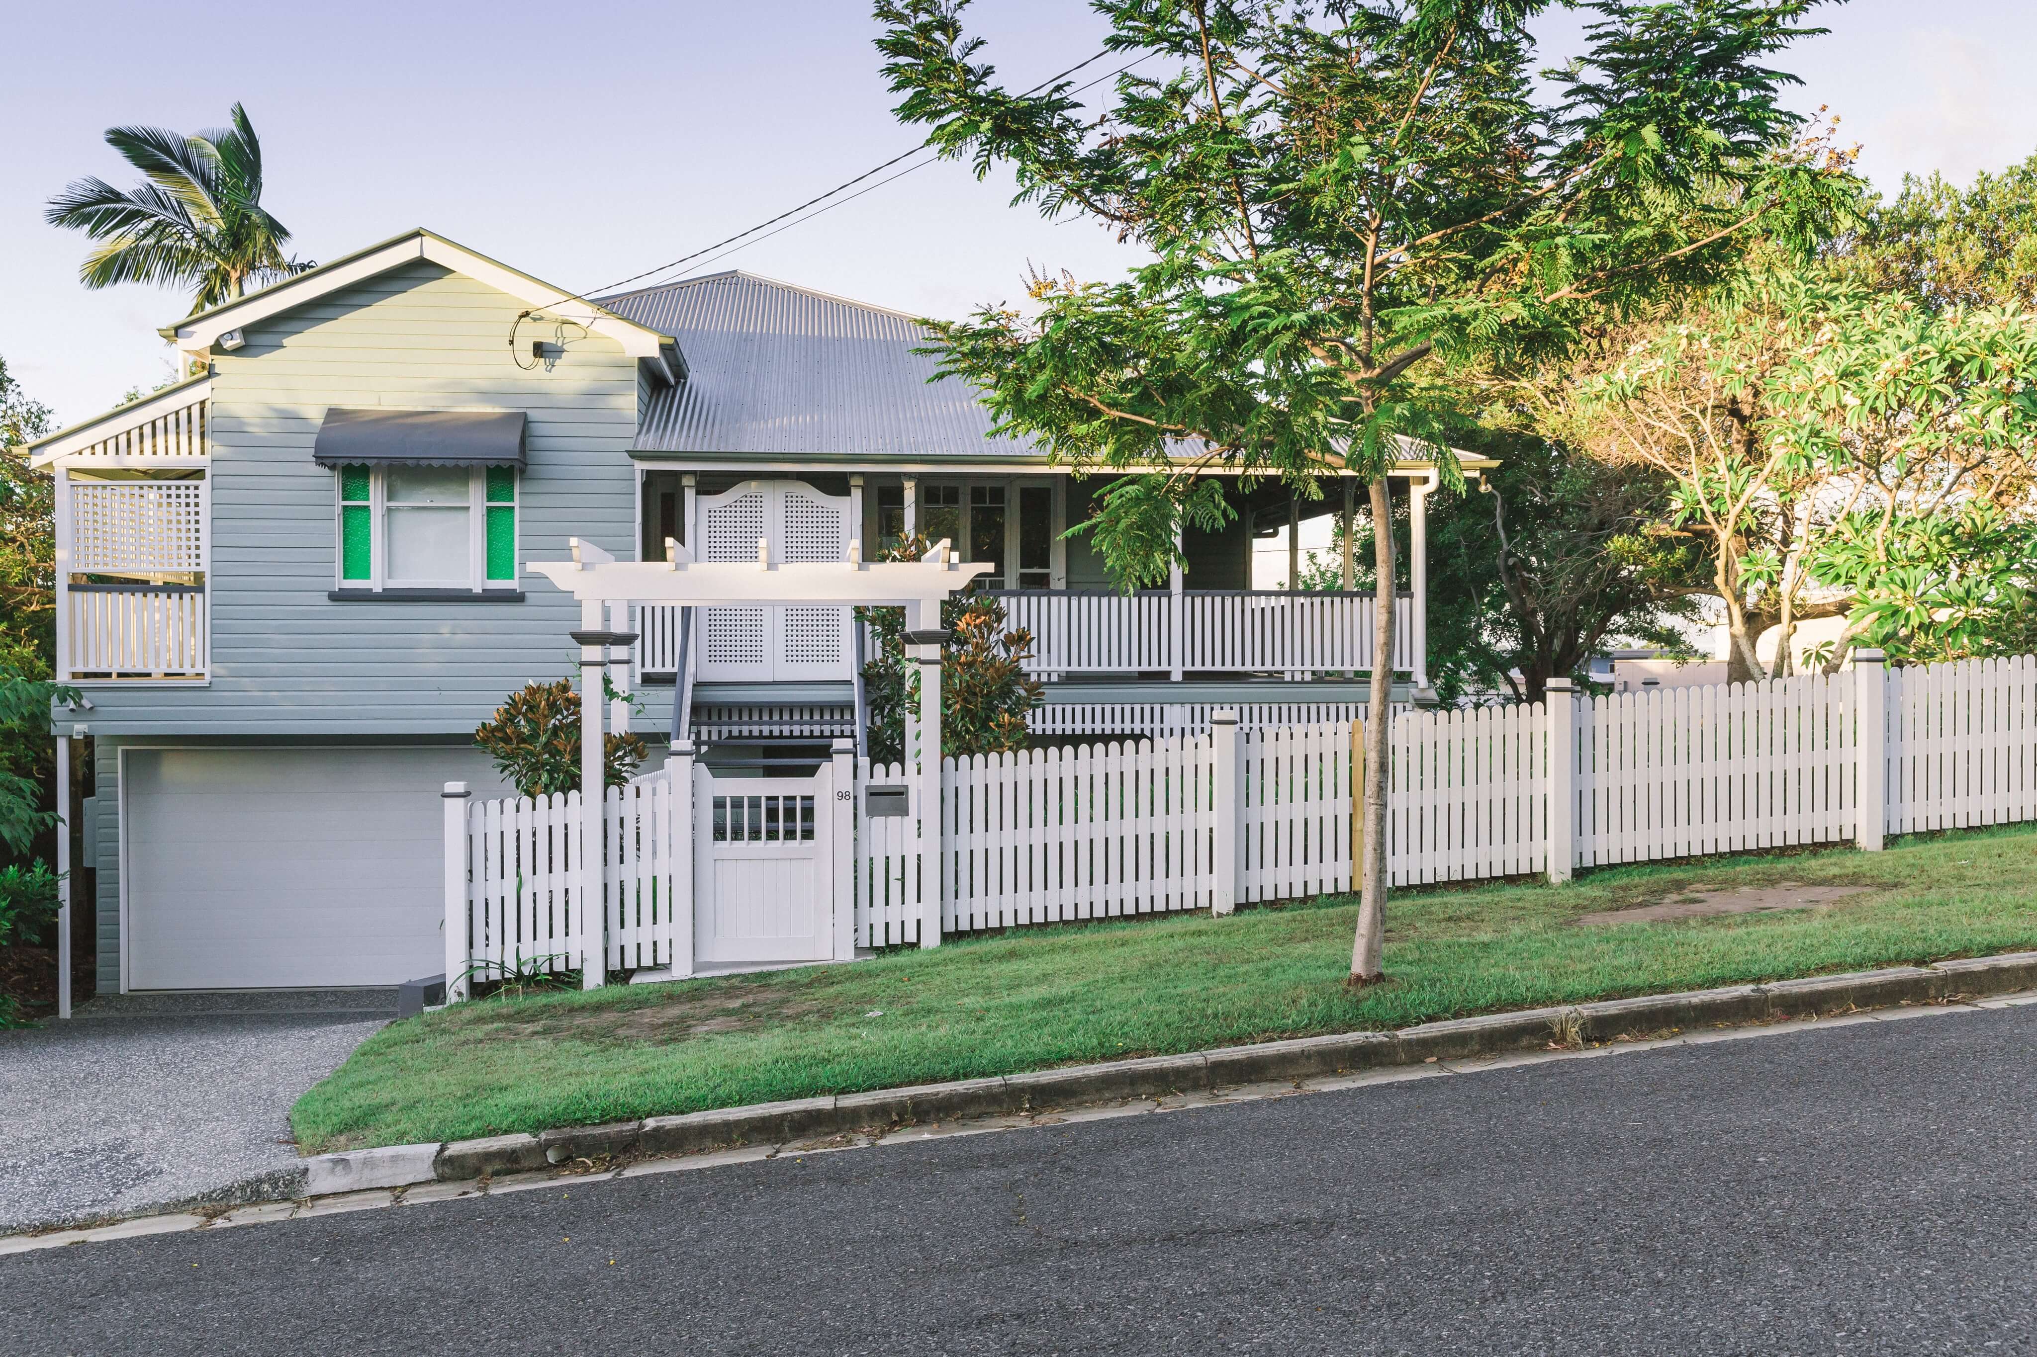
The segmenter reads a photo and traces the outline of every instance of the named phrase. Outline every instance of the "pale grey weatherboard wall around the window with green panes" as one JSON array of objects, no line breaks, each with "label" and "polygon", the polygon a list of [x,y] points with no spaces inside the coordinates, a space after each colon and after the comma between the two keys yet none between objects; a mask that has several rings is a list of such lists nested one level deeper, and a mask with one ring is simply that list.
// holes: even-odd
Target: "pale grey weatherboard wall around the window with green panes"
[{"label": "pale grey weatherboard wall around the window with green panes", "polygon": [[[212,387],[212,682],[94,690],[106,734],[458,734],[526,680],[572,671],[568,596],[334,602],[334,472],[312,462],[328,407],[521,409],[517,559],[566,537],[634,557],[636,360],[572,338],[552,370],[511,360],[521,301],[432,262],[246,330]],[[528,344],[550,326],[519,332]]]}]

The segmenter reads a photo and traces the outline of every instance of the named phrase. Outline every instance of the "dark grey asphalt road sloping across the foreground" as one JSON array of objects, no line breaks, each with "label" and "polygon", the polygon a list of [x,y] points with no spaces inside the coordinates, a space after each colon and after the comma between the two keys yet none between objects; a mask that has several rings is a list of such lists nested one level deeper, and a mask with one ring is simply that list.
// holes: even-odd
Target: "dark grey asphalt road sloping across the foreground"
[{"label": "dark grey asphalt road sloping across the foreground", "polygon": [[0,1259],[10,1353],[2037,1353],[2037,1007]]}]

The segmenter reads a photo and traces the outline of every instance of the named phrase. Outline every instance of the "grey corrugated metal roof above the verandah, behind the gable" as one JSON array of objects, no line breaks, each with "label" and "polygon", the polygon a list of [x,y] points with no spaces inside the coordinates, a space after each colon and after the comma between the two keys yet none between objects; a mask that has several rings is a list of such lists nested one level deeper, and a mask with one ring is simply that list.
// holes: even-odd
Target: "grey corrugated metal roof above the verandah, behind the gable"
[{"label": "grey corrugated metal roof above the verandah, behind the gable", "polygon": [[927,382],[927,332],[900,311],[750,273],[601,297],[678,340],[689,376],[660,391],[636,452],[776,456],[1039,456],[990,435],[968,382]]}]

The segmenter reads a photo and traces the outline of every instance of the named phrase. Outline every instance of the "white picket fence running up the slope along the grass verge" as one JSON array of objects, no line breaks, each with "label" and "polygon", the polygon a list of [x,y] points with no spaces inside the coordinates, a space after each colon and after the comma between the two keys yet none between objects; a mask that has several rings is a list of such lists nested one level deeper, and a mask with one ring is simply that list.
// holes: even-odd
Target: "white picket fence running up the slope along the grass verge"
[{"label": "white picket fence running up the slope along the grass verge", "polygon": [[[860,761],[854,938],[1348,891],[1365,736],[1363,720],[1241,728],[1218,712],[1202,732],[943,759],[931,822],[911,769]],[[2037,820],[2037,657],[1397,712],[1387,777],[1397,887]],[[570,968],[576,808],[515,798],[450,822],[477,975]],[[609,968],[691,956],[693,891],[674,889],[689,816],[664,775],[609,791]]]}]

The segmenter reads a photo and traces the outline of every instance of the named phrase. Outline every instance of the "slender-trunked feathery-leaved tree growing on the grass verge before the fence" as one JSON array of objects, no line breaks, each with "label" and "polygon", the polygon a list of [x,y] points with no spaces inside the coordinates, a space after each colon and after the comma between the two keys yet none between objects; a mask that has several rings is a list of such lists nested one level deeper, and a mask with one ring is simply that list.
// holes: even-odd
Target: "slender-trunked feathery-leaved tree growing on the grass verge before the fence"
[{"label": "slender-trunked feathery-leaved tree growing on the grass verge before the fence", "polygon": [[[1230,515],[1212,472],[1296,492],[1355,474],[1373,521],[1414,444],[1448,452],[1475,395],[1458,362],[1552,352],[1583,326],[1738,258],[1811,244],[1841,193],[1778,155],[1799,118],[1762,63],[1813,0],[1601,0],[1587,51],[1538,94],[1524,22],[1546,0],[1098,0],[1118,73],[1102,116],[1061,79],[1012,94],[966,0],[880,0],[902,96],[1018,201],[1092,218],[1153,254],[1126,279],[1037,279],[1035,315],[933,323],[945,374],[1006,433],[1076,468],[1143,472],[1082,525],[1126,586],[1165,576],[1175,527]],[[1393,535],[1373,533],[1375,578]],[[1393,653],[1377,610],[1375,653]],[[1391,684],[1371,686],[1353,983],[1381,979]]]}]

